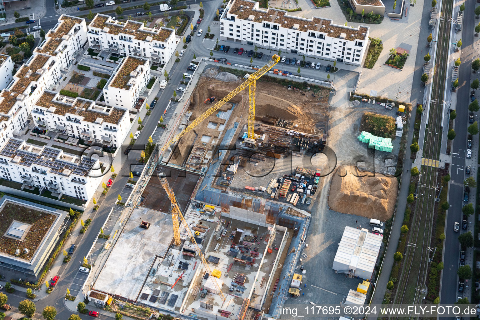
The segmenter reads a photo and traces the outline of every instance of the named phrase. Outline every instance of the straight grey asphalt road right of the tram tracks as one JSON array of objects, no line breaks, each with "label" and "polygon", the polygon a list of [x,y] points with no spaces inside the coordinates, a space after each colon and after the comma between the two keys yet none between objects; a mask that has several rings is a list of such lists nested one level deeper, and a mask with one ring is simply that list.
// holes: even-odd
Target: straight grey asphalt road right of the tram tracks
[{"label": "straight grey asphalt road right of the tram tracks", "polygon": [[[466,166],[466,150],[467,150],[467,128],[468,128],[468,104],[470,103],[470,76],[472,58],[477,58],[477,53],[473,49],[473,28],[471,27],[475,23],[474,9],[476,3],[474,1],[465,2],[465,11],[463,18],[463,25],[466,26],[462,31],[462,51],[460,65],[460,71],[458,72],[458,83],[460,83],[457,89],[456,100],[456,119],[455,119],[455,132],[456,137],[453,140],[452,145],[452,164],[450,170],[451,183],[449,187],[450,209],[448,209],[448,215],[446,220],[446,233],[444,241],[444,271],[443,281],[441,285],[440,303],[450,304],[455,303],[458,296],[462,296],[457,291],[458,289],[458,277],[457,269],[459,262],[460,245],[458,242],[458,236],[460,232],[465,232],[460,229],[460,232],[453,231],[453,225],[455,222],[462,224],[462,207],[463,207],[463,180]],[[477,120],[477,119],[476,119]],[[476,175],[476,159],[474,159],[472,170],[472,176]],[[453,182],[453,183],[452,183]],[[470,217],[472,219],[472,217]],[[472,230],[473,231],[473,230]],[[474,233],[474,232],[473,232]],[[468,296],[468,300],[470,297]]]}]

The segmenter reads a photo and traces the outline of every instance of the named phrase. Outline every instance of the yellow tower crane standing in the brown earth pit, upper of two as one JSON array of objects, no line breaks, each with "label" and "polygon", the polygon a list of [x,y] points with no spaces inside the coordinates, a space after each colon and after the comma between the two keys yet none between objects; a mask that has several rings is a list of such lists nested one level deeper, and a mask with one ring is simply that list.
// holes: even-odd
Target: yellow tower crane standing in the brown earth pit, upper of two
[{"label": "yellow tower crane standing in the brown earth pit, upper of two", "polygon": [[173,137],[172,140],[165,143],[165,145],[161,149],[161,152],[165,151],[170,144],[178,142],[181,137],[183,137],[190,130],[195,128],[200,122],[205,120],[207,117],[209,117],[211,114],[213,114],[216,110],[218,110],[220,107],[222,107],[224,104],[226,104],[235,95],[238,95],[246,87],[248,87],[249,90],[248,90],[248,138],[245,138],[245,141],[249,142],[249,143],[252,143],[252,144],[255,144],[255,137],[254,137],[254,133],[253,133],[253,131],[255,130],[255,128],[254,128],[254,124],[255,124],[255,90],[256,90],[255,84],[256,84],[257,79],[260,78],[261,76],[263,76],[265,73],[267,73],[270,69],[272,69],[273,66],[275,66],[278,61],[280,61],[280,56],[273,55],[272,59],[270,61],[268,61],[262,68],[258,69],[254,73],[252,73],[250,75],[250,77],[245,82],[240,84],[235,90],[233,90],[228,95],[226,95],[222,100],[218,101],[215,105],[210,107],[200,117],[193,120],[192,123],[187,128],[185,128],[183,131],[181,131],[179,134],[177,134],[175,137]]}]

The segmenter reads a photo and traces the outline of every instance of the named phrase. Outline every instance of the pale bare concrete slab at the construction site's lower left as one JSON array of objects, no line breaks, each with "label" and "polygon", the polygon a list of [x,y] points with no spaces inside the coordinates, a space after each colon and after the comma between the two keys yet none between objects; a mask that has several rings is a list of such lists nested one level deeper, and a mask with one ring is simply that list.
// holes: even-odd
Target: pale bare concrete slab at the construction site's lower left
[{"label": "pale bare concrete slab at the construction site's lower left", "polygon": [[[151,225],[140,227],[142,221]],[[96,279],[99,291],[138,300],[156,257],[163,258],[172,241],[171,214],[136,208],[125,224]]]}]

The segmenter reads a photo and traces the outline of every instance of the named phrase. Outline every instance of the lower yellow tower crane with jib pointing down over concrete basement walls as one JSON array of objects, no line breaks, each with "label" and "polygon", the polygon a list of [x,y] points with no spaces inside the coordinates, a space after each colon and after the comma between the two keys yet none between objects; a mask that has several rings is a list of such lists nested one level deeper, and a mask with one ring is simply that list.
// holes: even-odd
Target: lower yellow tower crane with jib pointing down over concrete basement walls
[{"label": "lower yellow tower crane with jib pointing down over concrete basement walls", "polygon": [[198,244],[195,241],[195,238],[193,237],[192,231],[190,230],[190,227],[188,226],[187,221],[185,221],[185,218],[181,213],[181,210],[177,204],[177,199],[175,198],[175,194],[173,193],[172,188],[168,184],[168,181],[166,178],[158,177],[158,179],[160,179],[160,183],[162,184],[163,189],[165,189],[165,192],[167,192],[167,195],[170,198],[170,202],[172,204],[173,237],[174,237],[175,245],[180,246],[180,230],[179,230],[179,223],[178,223],[178,217],[180,216],[180,220],[183,226],[185,227],[185,230],[187,230],[188,236],[190,237],[190,241],[192,241],[193,246],[195,247],[195,250],[198,251],[198,255],[200,256],[200,259],[202,260],[202,263],[204,264],[204,267],[207,273],[209,274],[210,277],[212,277],[212,282],[215,285],[215,288],[218,291],[218,294],[222,298],[222,301],[225,301],[226,297],[222,293],[222,288],[216,283],[215,277],[212,276],[212,270],[210,270],[210,267],[208,266],[208,263],[205,260],[204,254],[202,253],[202,250],[200,250],[200,247],[198,247]]}]

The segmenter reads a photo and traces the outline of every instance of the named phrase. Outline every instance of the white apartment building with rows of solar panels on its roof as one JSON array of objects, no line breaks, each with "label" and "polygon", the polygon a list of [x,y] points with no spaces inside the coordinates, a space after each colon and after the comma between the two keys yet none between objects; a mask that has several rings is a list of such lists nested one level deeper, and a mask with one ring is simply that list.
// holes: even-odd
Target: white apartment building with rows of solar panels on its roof
[{"label": "white apartment building with rows of solar panels on its roof", "polygon": [[60,149],[37,146],[8,138],[1,143],[0,177],[25,186],[88,201],[101,182],[99,160],[66,154]]}]

